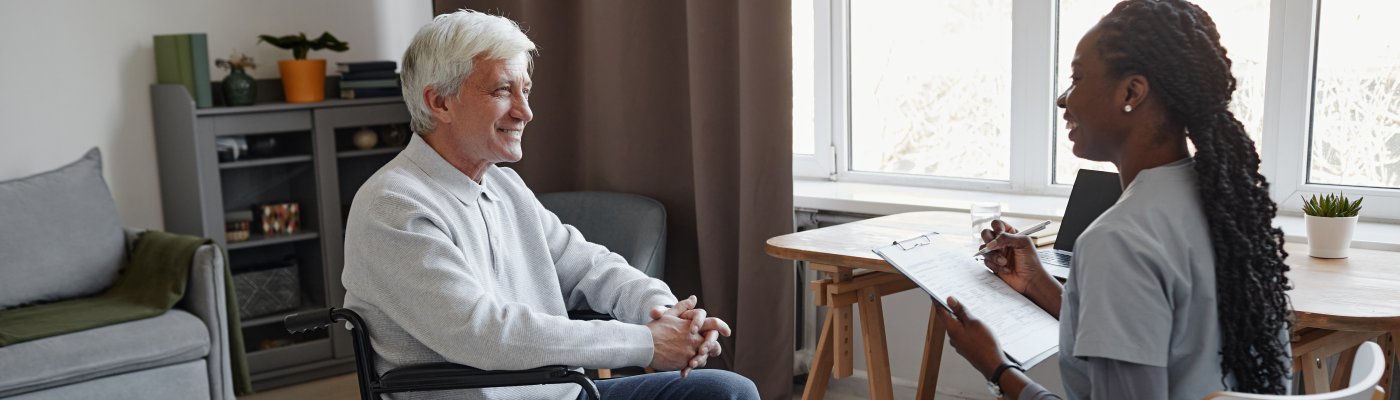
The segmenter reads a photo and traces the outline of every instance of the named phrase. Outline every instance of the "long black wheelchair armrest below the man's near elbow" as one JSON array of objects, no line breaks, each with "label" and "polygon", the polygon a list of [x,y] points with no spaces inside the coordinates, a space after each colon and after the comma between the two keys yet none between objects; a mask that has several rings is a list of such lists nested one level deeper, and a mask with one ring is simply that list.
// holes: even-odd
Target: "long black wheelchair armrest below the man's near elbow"
[{"label": "long black wheelchair armrest below the man's near elbow", "polygon": [[588,376],[561,365],[522,371],[486,371],[461,364],[430,362],[395,368],[379,376],[379,385],[391,392],[400,387],[444,390],[553,383],[582,386],[589,399],[598,399],[598,387]]}]

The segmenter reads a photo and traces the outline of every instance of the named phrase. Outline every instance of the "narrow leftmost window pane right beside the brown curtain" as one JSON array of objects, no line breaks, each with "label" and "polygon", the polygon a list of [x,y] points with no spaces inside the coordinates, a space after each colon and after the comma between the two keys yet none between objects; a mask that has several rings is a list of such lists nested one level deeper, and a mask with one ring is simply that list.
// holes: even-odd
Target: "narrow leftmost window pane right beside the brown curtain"
[{"label": "narrow leftmost window pane right beside the brown curtain", "polygon": [[813,1],[792,0],[792,152],[816,152]]}]

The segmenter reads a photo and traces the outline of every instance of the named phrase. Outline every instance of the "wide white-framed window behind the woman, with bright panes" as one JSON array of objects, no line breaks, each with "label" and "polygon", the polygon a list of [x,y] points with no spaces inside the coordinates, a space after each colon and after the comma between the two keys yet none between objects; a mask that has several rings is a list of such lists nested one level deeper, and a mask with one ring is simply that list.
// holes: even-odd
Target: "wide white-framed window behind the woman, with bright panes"
[{"label": "wide white-framed window behind the woman, with bright panes", "polygon": [[[794,0],[794,175],[1067,196],[1077,169],[1113,169],[1070,152],[1054,98],[1116,3]],[[1345,190],[1400,220],[1400,1],[1196,3],[1281,213]]]}]

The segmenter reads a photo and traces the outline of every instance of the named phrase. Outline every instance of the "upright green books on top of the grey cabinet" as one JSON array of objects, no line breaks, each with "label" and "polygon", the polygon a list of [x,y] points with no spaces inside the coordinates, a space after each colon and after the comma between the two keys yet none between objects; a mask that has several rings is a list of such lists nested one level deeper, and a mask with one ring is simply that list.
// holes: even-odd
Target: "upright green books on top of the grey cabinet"
[{"label": "upright green books on top of the grey cabinet", "polygon": [[204,34],[155,35],[155,83],[183,85],[195,106],[214,106],[209,38]]}]

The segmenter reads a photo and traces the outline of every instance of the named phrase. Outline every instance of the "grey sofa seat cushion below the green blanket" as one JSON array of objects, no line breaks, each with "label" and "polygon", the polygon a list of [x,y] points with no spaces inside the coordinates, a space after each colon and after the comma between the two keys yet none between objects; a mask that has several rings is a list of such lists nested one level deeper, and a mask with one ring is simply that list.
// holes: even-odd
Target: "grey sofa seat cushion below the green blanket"
[{"label": "grey sofa seat cushion below the green blanket", "polygon": [[[209,355],[209,327],[169,310],[161,316],[0,347],[0,397]],[[207,385],[207,383],[206,383]]]}]

